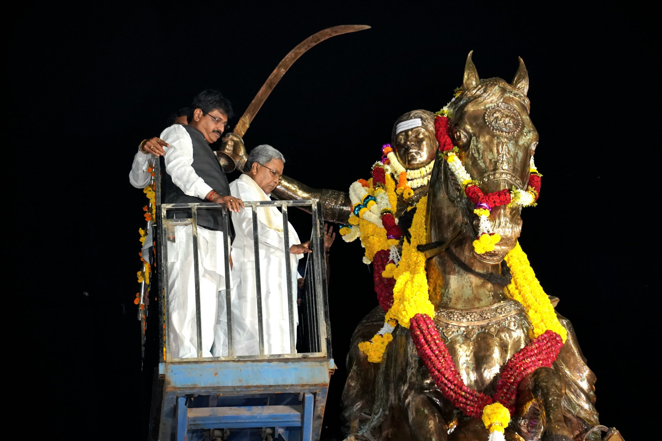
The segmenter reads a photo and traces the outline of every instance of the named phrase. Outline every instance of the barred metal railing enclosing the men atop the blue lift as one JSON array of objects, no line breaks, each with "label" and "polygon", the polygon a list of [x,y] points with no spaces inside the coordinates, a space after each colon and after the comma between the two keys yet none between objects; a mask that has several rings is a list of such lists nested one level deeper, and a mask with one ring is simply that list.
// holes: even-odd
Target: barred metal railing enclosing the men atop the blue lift
[{"label": "barred metal railing enclosing the men atop the blue lift", "polygon": [[[160,193],[160,192],[159,192]],[[321,206],[319,201],[316,200],[303,200],[303,201],[244,201],[245,209],[251,209],[253,221],[253,241],[254,241],[254,254],[255,254],[255,274],[256,274],[256,298],[257,298],[257,311],[258,311],[258,355],[251,356],[236,356],[233,350],[233,336],[232,336],[232,302],[230,299],[230,238],[228,232],[230,230],[230,217],[228,216],[228,209],[225,205],[218,205],[216,203],[190,203],[190,204],[162,204],[157,207],[157,212],[160,213],[160,228],[157,234],[157,254],[159,266],[159,282],[162,288],[162,309],[164,330],[165,330],[165,344],[164,344],[164,360],[166,362],[189,362],[201,360],[266,360],[273,358],[309,358],[309,357],[326,357],[327,353],[327,340],[330,333],[327,332],[327,316],[328,305],[326,299],[326,268],[324,261],[324,234],[322,233],[322,219],[320,218]],[[287,305],[288,305],[288,320],[289,320],[289,338],[290,338],[290,352],[289,354],[265,354],[264,350],[264,329],[263,329],[263,309],[262,309],[262,291],[261,284],[265,281],[261,280],[260,271],[260,242],[258,240],[258,230],[260,222],[258,222],[258,209],[266,209],[267,207],[281,207],[283,216],[283,239],[285,253],[285,273],[287,279]],[[288,213],[289,207],[307,207],[312,213],[312,234],[310,248],[312,253],[307,265],[307,295],[308,298],[305,306],[304,320],[307,326],[303,329],[305,344],[308,346],[310,352],[303,352],[297,354],[295,344],[295,317],[294,317],[294,299],[292,287],[292,268],[290,262],[289,252],[289,224]],[[309,207],[309,208],[308,208]],[[167,214],[170,211],[189,211],[191,217],[184,219],[168,219]],[[199,256],[198,256],[198,225],[197,216],[201,210],[219,210],[222,219],[222,230],[224,232],[224,263],[225,263],[225,303],[227,315],[227,336],[228,336],[228,356],[222,357],[204,357],[202,356],[202,326],[201,326],[201,301],[200,301],[200,274],[199,274]],[[193,267],[195,275],[195,322],[197,331],[197,358],[171,358],[170,347],[170,311],[168,305],[168,271],[167,271],[167,246],[166,238],[168,235],[169,226],[175,225],[191,225],[193,230]],[[308,273],[311,277],[308,279]],[[267,281],[268,282],[268,281]],[[312,333],[312,335],[311,335]],[[330,348],[329,348],[330,349]]]}]

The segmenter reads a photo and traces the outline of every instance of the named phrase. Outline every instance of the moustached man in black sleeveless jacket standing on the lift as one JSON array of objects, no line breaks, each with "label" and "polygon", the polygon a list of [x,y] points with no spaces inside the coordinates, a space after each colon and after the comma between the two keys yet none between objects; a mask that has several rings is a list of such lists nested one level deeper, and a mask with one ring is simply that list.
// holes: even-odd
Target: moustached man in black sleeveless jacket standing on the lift
[{"label": "moustached man in black sleeveless jacket standing on the lift", "polygon": [[[219,91],[205,90],[193,100],[188,125],[173,124],[160,138],[166,143],[162,157],[162,203],[222,203],[238,213],[244,204],[230,195],[225,173],[211,149],[225,130],[232,107]],[[190,218],[190,209],[168,211],[168,217]],[[201,304],[202,356],[211,356],[218,291],[225,286],[222,213],[197,211],[197,240]],[[226,232],[232,236],[231,231]],[[193,226],[176,225],[167,232],[167,273],[171,358],[197,357]]]}]

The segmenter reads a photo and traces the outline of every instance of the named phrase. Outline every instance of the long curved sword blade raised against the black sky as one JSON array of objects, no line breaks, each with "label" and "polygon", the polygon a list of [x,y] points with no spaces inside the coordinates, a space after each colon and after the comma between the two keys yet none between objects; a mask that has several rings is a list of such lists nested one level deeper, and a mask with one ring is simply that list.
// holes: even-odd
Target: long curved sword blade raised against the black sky
[{"label": "long curved sword blade raised against the black sky", "polygon": [[250,123],[253,121],[255,115],[260,110],[260,107],[262,107],[264,101],[267,99],[267,97],[269,97],[269,93],[271,93],[273,88],[278,84],[278,81],[281,80],[283,75],[285,75],[285,72],[287,72],[290,66],[292,66],[292,64],[294,64],[294,62],[297,61],[300,56],[305,54],[308,49],[312,48],[312,46],[315,46],[319,42],[326,40],[327,38],[331,38],[332,36],[348,34],[349,32],[356,32],[357,30],[369,28],[370,26],[366,26],[364,24],[344,24],[342,26],[334,26],[332,28],[320,30],[320,32],[312,34],[301,43],[299,43],[296,48],[291,50],[289,54],[287,54],[285,58],[281,60],[273,72],[271,72],[271,75],[269,75],[267,81],[265,81],[265,83],[262,85],[260,91],[258,91],[258,94],[255,95],[255,98],[248,106],[248,109],[246,109],[246,112],[244,112],[244,115],[242,115],[242,117],[239,119],[239,122],[236,124],[233,130],[234,133],[238,134],[239,136],[244,136],[244,133],[246,133],[246,130],[248,130],[248,126],[250,126]]}]

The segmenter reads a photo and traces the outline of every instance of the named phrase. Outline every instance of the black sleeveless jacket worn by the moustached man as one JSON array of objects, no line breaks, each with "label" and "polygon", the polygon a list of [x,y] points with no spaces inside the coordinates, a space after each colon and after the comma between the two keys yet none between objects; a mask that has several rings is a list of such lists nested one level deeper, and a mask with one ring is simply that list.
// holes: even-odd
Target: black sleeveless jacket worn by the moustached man
[{"label": "black sleeveless jacket worn by the moustached man", "polygon": [[[216,155],[214,155],[213,150],[209,142],[205,139],[205,136],[197,129],[191,126],[182,126],[191,136],[191,141],[193,142],[193,170],[201,178],[204,179],[205,183],[212,187],[216,193],[222,196],[230,195],[230,185],[228,185],[228,178],[225,176],[225,172],[220,168]],[[164,157],[160,158],[161,161],[161,170],[162,170],[162,203],[164,204],[175,204],[175,203],[200,203],[200,202],[209,202],[205,199],[200,199],[199,197],[189,196],[175,183],[173,183],[172,178],[166,172],[166,163]],[[171,214],[172,213],[172,214]],[[228,213],[229,214],[229,213]],[[191,217],[190,210],[182,211],[169,211],[169,218],[183,218]],[[220,215],[220,210],[198,210],[198,225],[209,228],[210,230],[219,230],[222,231],[222,218]],[[228,218],[228,223],[230,224],[230,230],[232,230],[232,221]],[[230,236],[234,236],[232,231],[230,231]]]}]

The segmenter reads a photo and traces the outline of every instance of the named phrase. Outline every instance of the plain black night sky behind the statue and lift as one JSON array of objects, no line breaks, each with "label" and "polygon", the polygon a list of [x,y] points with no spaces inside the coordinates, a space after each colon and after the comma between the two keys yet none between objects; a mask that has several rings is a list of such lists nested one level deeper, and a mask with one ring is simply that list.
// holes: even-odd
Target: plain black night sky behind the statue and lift
[{"label": "plain black night sky behind the statue and lift", "polygon": [[[21,360],[19,396],[48,409],[40,426],[69,439],[146,436],[152,366],[141,371],[133,304],[146,199],[127,176],[138,142],[205,88],[221,89],[241,115],[301,40],[369,24],[294,64],[244,136],[247,147],[272,144],[287,175],[347,189],[369,174],[399,115],[449,101],[469,50],[483,78],[512,79],[522,56],[544,182],[540,205],[524,210],[520,242],[598,377],[600,421],[639,439],[659,356],[648,324],[658,320],[649,251],[659,252],[650,214],[659,208],[659,141],[657,109],[647,109],[659,50],[649,13],[634,4],[582,8],[24,2],[5,15],[5,256],[16,281],[5,299],[20,336],[7,355]],[[307,215],[294,221],[307,236]],[[361,255],[340,238],[332,248],[338,370],[325,439],[340,439],[349,338],[376,305]]]}]

